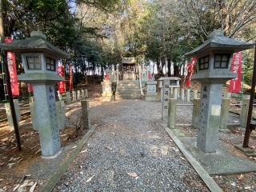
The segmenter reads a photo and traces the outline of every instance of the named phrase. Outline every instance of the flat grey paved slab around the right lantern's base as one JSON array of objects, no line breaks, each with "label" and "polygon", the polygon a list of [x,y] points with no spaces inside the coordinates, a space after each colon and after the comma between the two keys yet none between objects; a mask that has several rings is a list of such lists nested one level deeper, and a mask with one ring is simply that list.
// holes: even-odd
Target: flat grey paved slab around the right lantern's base
[{"label": "flat grey paved slab around the right lantern's base", "polygon": [[204,153],[196,146],[196,138],[180,138],[186,149],[209,174],[243,174],[256,171],[256,163],[230,153],[230,146],[219,142],[216,153]]}]

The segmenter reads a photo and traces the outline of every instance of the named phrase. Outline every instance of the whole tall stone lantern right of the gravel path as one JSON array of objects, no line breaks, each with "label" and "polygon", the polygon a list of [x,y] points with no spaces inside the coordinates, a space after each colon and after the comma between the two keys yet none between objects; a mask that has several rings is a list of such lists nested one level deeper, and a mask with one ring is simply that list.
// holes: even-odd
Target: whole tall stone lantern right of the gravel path
[{"label": "whole tall stone lantern right of the gravel path", "polygon": [[192,76],[192,80],[202,83],[197,146],[206,153],[218,149],[222,86],[227,80],[236,78],[230,71],[232,55],[253,46],[254,43],[228,38],[222,31],[214,30],[206,42],[186,54],[198,58],[198,73]]}]

